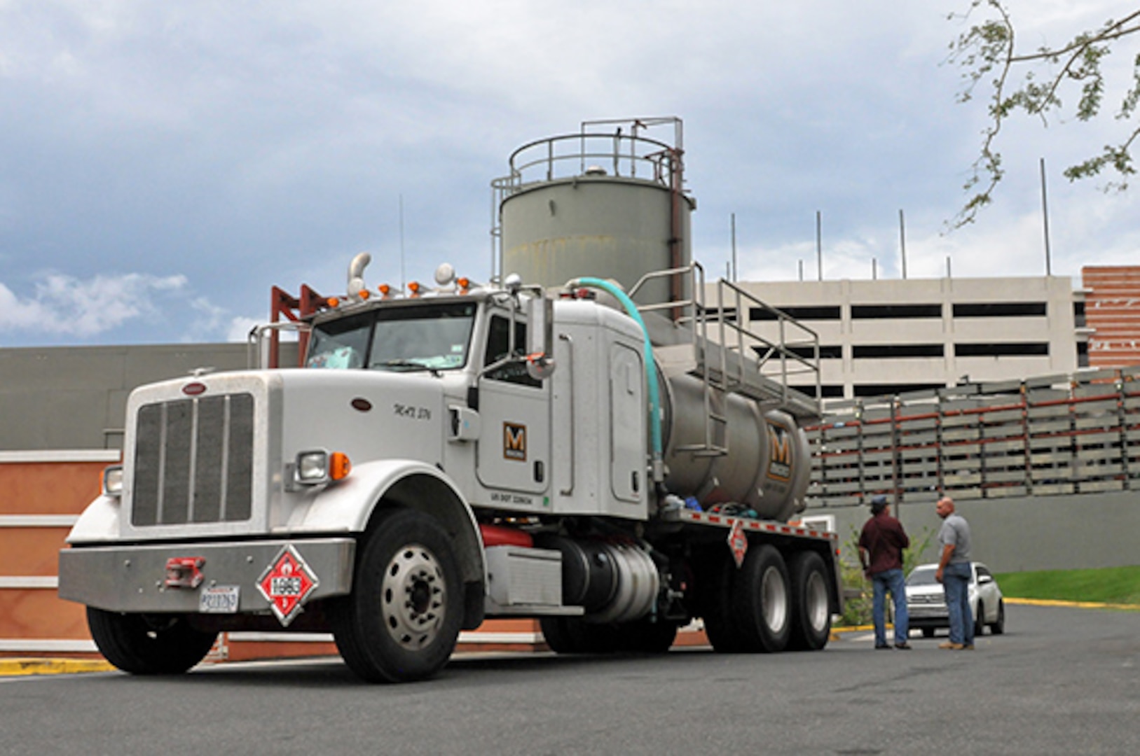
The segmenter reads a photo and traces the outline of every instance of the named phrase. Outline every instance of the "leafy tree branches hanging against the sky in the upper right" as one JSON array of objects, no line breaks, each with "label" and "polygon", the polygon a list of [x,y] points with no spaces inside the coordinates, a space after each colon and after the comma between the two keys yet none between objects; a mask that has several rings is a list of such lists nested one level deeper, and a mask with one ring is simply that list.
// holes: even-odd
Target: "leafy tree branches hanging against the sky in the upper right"
[{"label": "leafy tree branches hanging against the sky in the upper right", "polygon": [[[970,178],[963,189],[972,196],[951,221],[952,228],[972,223],[977,213],[992,202],[997,183],[1004,176],[1001,153],[996,147],[997,135],[1005,120],[1018,110],[1041,118],[1062,117],[1070,113],[1078,121],[1091,121],[1101,113],[1105,100],[1105,75],[1102,63],[1118,40],[1140,32],[1140,10],[1134,10],[1118,20],[1108,19],[1101,26],[1075,34],[1059,47],[1044,46],[1036,52],[1016,52],[1016,30],[1012,18],[1000,0],[971,0],[963,14],[951,14],[952,20],[970,23],[976,13],[987,13],[990,17],[972,23],[950,44],[950,61],[962,68],[963,88],[958,94],[959,102],[968,102],[975,90],[988,88],[987,113],[990,124],[983,130],[978,158],[971,166]],[[1020,82],[1010,79],[1020,75]],[[1067,112],[1060,98],[1062,89],[1076,90],[1076,105]],[[1106,190],[1127,189],[1129,179],[1135,173],[1132,164],[1132,143],[1140,137],[1140,125],[1132,121],[1140,102],[1140,55],[1134,59],[1130,84],[1121,97],[1121,107],[1115,117],[1124,122],[1117,143],[1106,145],[1094,155],[1065,170],[1070,181],[1099,175],[1110,170],[1118,175],[1108,182]]]}]

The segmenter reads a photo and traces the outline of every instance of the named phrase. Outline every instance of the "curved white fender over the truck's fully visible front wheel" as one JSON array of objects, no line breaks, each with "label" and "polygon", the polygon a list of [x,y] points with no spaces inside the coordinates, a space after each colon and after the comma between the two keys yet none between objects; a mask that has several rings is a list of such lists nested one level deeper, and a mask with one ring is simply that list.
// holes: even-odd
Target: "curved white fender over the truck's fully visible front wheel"
[{"label": "curved white fender over the truck's fully visible front wheel", "polygon": [[451,536],[464,583],[487,585],[479,524],[467,500],[439,468],[417,460],[385,459],[355,465],[336,485],[317,493],[290,529],[364,533],[380,508],[407,507],[438,519]]}]

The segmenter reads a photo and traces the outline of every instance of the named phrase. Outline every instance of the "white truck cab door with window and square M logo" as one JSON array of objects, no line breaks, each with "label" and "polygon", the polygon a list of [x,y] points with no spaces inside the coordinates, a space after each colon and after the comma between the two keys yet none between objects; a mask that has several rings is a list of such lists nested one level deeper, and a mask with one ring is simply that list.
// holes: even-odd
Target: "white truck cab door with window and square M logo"
[{"label": "white truck cab door with window and square M logo", "polygon": [[[488,327],[483,364],[490,365],[510,351],[511,321],[492,314]],[[522,358],[527,344],[526,323],[515,321],[515,354]],[[495,501],[512,509],[544,506],[539,494],[551,479],[549,380],[527,373],[522,359],[484,373],[479,380],[479,482],[492,488]],[[506,492],[516,492],[510,495]]]}]

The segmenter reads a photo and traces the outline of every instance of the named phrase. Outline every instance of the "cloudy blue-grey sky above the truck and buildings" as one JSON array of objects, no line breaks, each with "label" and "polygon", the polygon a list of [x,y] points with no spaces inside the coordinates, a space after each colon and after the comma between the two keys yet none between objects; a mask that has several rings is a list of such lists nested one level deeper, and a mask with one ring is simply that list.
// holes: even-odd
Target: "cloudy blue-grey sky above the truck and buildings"
[{"label": "cloudy blue-grey sky above the truck and buildings", "polygon": [[[815,278],[820,212],[825,278],[898,277],[903,209],[912,278],[1042,274],[1041,158],[1053,273],[1140,263],[1140,186],[1061,176],[1112,117],[1011,123],[994,205],[945,233],[985,125],[946,64],[967,6],[0,0],[0,346],[239,340],[358,252],[399,282],[401,205],[408,279],[484,278],[491,179],[597,118],[683,118],[718,273],[735,214],[740,278]],[[1131,6],[1009,2],[1026,50]]]}]

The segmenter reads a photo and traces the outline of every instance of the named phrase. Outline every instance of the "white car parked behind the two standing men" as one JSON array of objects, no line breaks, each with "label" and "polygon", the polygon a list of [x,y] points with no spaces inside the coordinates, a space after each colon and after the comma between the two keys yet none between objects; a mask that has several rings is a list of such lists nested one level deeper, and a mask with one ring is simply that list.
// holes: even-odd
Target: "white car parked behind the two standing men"
[{"label": "white car parked behind the two standing men", "polygon": [[[946,594],[935,580],[938,565],[919,565],[906,577],[906,613],[911,628],[930,638],[938,627],[950,627]],[[990,568],[979,561],[970,562],[970,611],[974,615],[974,634],[982,635],[986,625],[994,635],[1005,632],[1005,602]]]}]

